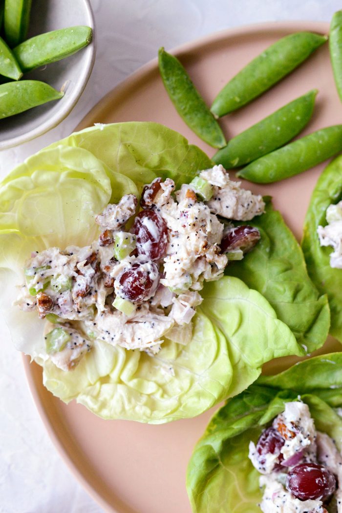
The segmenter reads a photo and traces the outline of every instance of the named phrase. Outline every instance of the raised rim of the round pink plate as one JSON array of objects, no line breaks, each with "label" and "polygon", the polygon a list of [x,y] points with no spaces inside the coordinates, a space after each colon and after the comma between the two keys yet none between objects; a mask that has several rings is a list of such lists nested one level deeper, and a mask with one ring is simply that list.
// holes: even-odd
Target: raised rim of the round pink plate
[{"label": "raised rim of the round pink plate", "polygon": [[[88,1],[88,0],[87,0]],[[312,31],[317,33],[328,33],[329,32],[329,22],[317,22],[312,20],[299,20],[299,21],[270,21],[270,22],[260,22],[254,24],[246,24],[239,25],[236,27],[230,27],[228,29],[222,29],[216,32],[211,32],[204,36],[199,36],[190,42],[186,42],[176,47],[168,50],[170,53],[174,55],[180,55],[183,53],[189,53],[196,49],[198,46],[204,46],[207,44],[212,44],[214,42],[231,38],[239,35],[246,35],[246,33],[257,33],[262,31],[270,30],[277,31],[288,31],[296,32],[296,31]],[[76,125],[75,131],[82,130],[86,127],[92,126],[92,120],[97,115],[97,113],[103,108],[102,105],[106,102],[110,101],[110,98],[115,97],[120,94],[126,87],[132,86],[136,81],[141,80],[144,75],[152,72],[158,66],[158,58],[154,57],[152,60],[148,61],[146,64],[140,66],[137,70],[127,76],[122,82],[113,87],[110,91],[108,91],[100,100],[90,109],[90,111],[83,117],[83,119]],[[88,120],[91,120],[88,121]],[[61,439],[59,439],[54,424],[48,415],[47,411],[44,408],[44,401],[41,398],[41,394],[39,390],[44,387],[43,382],[36,386],[36,382],[34,379],[34,372],[31,371],[31,360],[30,357],[22,353],[22,361],[24,366],[24,371],[26,374],[26,379],[28,381],[29,390],[31,393],[31,397],[37,408],[39,413],[39,417],[41,417],[43,424],[47,430],[47,433],[57,449],[59,456],[61,456],[63,462],[71,471],[72,475],[75,477],[76,481],[81,484],[81,486],[86,490],[88,495],[97,503],[100,507],[102,507],[107,513],[126,513],[122,510],[116,509],[116,506],[110,504],[104,497],[102,497],[97,490],[93,488],[91,485],[90,479],[87,479],[81,469],[75,464],[71,455],[69,454],[67,448]],[[33,362],[34,365],[37,365]],[[51,392],[50,392],[51,393]],[[104,420],[105,422],[105,420]]]}]

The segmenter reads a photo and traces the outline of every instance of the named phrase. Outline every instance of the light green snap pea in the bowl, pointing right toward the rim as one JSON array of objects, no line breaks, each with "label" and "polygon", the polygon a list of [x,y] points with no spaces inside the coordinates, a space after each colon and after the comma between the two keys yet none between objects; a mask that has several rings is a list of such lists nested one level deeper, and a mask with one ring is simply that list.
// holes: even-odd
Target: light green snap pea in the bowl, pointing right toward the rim
[{"label": "light green snap pea in the bowl, pointing right toward the rim", "polygon": [[69,57],[91,42],[90,27],[77,26],[36,35],[13,49],[23,72]]}]

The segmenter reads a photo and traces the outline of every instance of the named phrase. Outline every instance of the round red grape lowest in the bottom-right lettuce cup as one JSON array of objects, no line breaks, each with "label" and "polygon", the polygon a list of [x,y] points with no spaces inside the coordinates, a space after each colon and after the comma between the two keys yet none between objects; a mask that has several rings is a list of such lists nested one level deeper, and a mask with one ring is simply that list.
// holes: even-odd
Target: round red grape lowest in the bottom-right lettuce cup
[{"label": "round red grape lowest in the bottom-right lettuce cup", "polygon": [[301,501],[325,500],[333,494],[336,479],[327,467],[318,463],[300,463],[293,467],[286,479],[286,488]]}]

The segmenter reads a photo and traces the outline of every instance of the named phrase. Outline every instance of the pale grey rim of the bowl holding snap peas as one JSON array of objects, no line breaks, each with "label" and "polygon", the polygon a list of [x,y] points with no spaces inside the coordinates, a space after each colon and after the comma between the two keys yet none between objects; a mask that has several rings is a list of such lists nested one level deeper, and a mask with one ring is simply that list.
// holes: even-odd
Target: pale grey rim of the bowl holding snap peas
[{"label": "pale grey rim of the bowl holding snap peas", "polygon": [[[95,21],[94,21],[94,14],[93,10],[90,5],[90,0],[83,0],[84,2],[84,8],[86,16],[88,17],[88,23],[92,30],[94,30]],[[10,139],[5,139],[0,141],[0,150],[5,150],[9,148],[13,148],[15,146],[18,146],[22,143],[27,143],[28,141],[32,141],[32,139],[35,139],[39,135],[43,135],[44,133],[48,132],[52,128],[56,127],[61,123],[72,111],[72,109],[75,107],[76,103],[79,100],[79,97],[81,96],[82,92],[84,91],[91,71],[94,66],[95,61],[95,49],[96,49],[96,43],[95,43],[95,37],[94,33],[92,34],[92,40],[90,44],[87,46],[87,60],[84,66],[84,72],[83,72],[83,80],[76,83],[75,88],[73,90],[72,96],[70,97],[70,102],[66,103],[60,110],[58,110],[53,116],[51,116],[49,119],[47,119],[44,123],[41,125],[38,125],[29,132],[23,133],[21,135],[17,135],[14,137],[11,137]]]}]

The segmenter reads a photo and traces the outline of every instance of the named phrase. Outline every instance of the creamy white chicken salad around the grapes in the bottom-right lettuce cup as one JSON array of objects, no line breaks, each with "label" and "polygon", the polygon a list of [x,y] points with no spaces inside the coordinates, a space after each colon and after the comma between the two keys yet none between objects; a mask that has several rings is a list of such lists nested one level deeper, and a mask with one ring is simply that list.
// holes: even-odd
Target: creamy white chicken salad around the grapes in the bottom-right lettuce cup
[{"label": "creamy white chicken salad around the grapes in the bottom-right lettuce cup", "polygon": [[[287,470],[299,463],[318,463],[326,466],[337,477],[338,487],[330,500],[329,511],[342,513],[342,457],[334,441],[326,434],[316,431],[310,411],[305,403],[293,401],[285,403],[285,410],[272,424],[285,439],[278,455],[263,455],[263,463],[256,446],[250,442],[249,459],[253,466],[263,474],[259,478],[260,488],[264,489],[263,499],[259,504],[264,513],[327,513],[324,503],[319,500],[300,500],[294,497],[285,486]],[[292,458],[292,460],[290,460]],[[287,463],[288,466],[280,463]],[[289,465],[291,463],[291,465]]]}]

